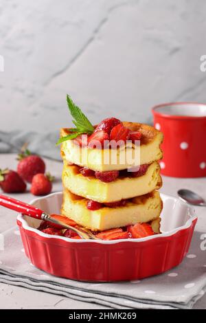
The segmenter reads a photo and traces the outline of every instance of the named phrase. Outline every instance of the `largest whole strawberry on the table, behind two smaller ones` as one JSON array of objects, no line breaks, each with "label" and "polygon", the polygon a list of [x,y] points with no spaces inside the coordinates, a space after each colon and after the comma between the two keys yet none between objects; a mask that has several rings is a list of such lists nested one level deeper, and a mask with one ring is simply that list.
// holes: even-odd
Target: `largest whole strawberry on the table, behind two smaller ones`
[{"label": "largest whole strawberry on the table, behind two smaller ones", "polygon": [[17,158],[19,164],[17,165],[18,174],[29,183],[32,183],[32,178],[38,173],[44,174],[45,172],[45,162],[43,159],[36,155],[31,155],[30,151],[27,149],[25,153],[19,154]]}]

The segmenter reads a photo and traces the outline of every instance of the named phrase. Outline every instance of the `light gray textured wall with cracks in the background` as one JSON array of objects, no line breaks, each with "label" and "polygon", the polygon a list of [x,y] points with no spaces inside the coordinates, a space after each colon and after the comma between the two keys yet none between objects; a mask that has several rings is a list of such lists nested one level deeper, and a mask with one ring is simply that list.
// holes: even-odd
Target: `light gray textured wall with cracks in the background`
[{"label": "light gray textured wall with cracks in the background", "polygon": [[205,0],[1,0],[1,131],[147,121],[152,105],[205,101]]}]

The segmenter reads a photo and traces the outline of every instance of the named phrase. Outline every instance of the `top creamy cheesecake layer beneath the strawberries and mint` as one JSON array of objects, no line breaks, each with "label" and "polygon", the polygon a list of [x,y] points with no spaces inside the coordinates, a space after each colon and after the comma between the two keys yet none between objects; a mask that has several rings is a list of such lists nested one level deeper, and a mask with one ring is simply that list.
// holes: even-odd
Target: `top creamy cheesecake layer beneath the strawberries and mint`
[{"label": "top creamy cheesecake layer beneath the strawberries and mint", "polygon": [[[123,170],[134,165],[151,164],[162,158],[160,144],[163,134],[152,126],[135,122],[123,122],[131,131],[141,132],[141,144],[127,144],[117,149],[80,147],[75,140],[62,142],[62,158],[71,164],[88,167],[101,172]],[[69,129],[61,129],[60,136],[69,134]]]}]

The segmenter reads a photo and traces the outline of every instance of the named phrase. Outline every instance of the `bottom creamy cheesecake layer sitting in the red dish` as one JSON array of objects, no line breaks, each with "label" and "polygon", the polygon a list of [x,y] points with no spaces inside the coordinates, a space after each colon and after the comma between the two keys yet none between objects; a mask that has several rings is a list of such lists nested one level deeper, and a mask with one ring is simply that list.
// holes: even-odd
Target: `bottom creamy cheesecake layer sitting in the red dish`
[{"label": "bottom creamy cheesecake layer sitting in the red dish", "polygon": [[87,209],[87,201],[65,190],[61,213],[79,225],[100,231],[153,221],[159,218],[163,207],[157,191],[135,197],[116,208],[103,207],[92,211]]}]

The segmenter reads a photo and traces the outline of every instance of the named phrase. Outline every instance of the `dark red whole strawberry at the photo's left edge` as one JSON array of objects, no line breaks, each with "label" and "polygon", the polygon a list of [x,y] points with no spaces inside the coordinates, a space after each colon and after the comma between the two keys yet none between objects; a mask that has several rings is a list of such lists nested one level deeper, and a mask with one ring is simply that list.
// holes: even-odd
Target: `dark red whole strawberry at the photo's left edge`
[{"label": "dark red whole strawberry at the photo's left edge", "polygon": [[0,187],[5,193],[21,193],[27,186],[18,172],[6,168],[0,169]]}]

